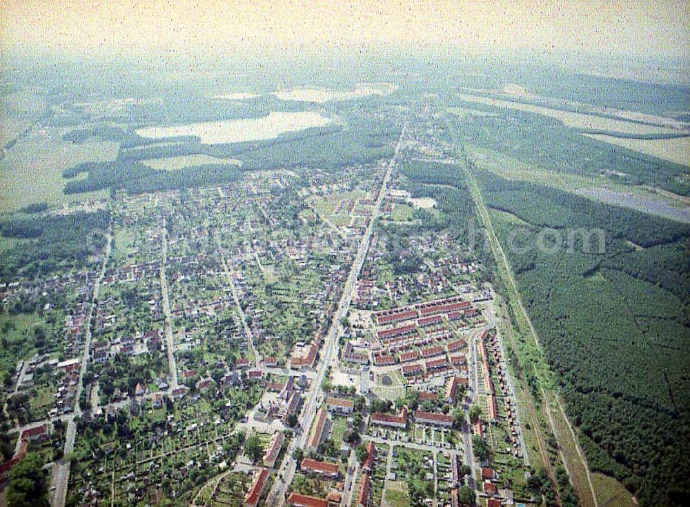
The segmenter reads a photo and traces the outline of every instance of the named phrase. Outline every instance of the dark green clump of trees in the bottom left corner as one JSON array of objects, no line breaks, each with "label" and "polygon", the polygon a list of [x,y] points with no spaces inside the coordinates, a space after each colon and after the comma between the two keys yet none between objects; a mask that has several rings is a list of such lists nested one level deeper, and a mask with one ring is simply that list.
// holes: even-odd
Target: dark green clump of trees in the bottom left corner
[{"label": "dark green clump of trees in the bottom left corner", "polygon": [[10,471],[7,504],[9,507],[48,507],[47,486],[43,460],[36,453],[28,453]]}]

